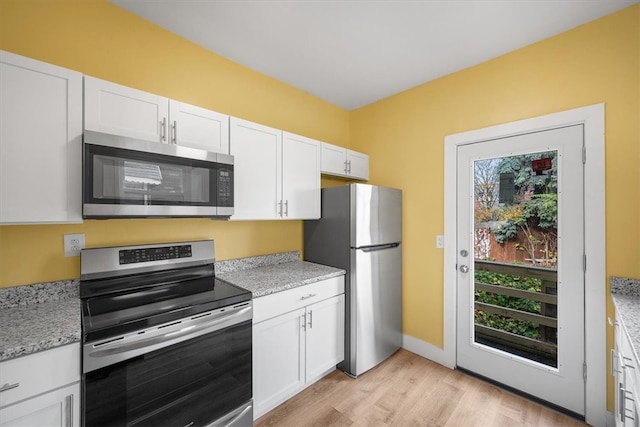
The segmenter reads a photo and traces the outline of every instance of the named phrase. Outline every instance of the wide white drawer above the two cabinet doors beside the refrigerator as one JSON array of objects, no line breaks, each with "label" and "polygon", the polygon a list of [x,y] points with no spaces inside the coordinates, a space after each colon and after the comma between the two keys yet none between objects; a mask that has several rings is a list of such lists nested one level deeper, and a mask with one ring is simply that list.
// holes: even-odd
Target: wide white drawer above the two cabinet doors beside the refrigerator
[{"label": "wide white drawer above the two cabinet doors beside the refrigerator", "polygon": [[344,276],[332,277],[253,300],[253,323],[344,293]]}]

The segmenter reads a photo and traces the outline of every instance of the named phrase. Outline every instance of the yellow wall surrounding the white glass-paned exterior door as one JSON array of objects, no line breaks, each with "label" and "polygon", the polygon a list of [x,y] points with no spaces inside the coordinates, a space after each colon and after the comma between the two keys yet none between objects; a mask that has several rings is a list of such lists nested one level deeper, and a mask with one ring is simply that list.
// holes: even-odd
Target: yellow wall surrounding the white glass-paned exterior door
[{"label": "yellow wall surrounding the white glass-paned exterior door", "polygon": [[640,278],[640,6],[352,113],[371,181],[404,190],[406,334],[443,346],[444,137],[601,102],[607,276]]}]

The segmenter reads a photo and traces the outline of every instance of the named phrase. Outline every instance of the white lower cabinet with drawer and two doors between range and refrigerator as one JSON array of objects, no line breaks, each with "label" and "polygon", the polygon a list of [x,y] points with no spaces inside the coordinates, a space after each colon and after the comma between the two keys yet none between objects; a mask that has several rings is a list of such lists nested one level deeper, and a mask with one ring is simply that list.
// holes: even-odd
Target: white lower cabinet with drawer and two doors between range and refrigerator
[{"label": "white lower cabinet with drawer and two doors between range and refrigerator", "polygon": [[344,359],[344,277],[254,300],[254,418]]}]

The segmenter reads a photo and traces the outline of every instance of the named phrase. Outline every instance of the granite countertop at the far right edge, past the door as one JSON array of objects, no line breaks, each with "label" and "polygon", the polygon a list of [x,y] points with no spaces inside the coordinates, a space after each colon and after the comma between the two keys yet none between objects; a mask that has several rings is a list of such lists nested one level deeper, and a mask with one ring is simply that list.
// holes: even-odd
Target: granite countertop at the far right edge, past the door
[{"label": "granite countertop at the far right edge, past the door", "polygon": [[640,350],[640,280],[611,277],[611,298],[633,346],[636,360]]}]

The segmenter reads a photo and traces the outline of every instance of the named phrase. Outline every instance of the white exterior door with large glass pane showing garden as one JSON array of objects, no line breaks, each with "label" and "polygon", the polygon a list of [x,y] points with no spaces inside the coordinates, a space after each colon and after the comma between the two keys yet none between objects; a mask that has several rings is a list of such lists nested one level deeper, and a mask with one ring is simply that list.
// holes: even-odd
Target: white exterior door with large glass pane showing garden
[{"label": "white exterior door with large glass pane showing garden", "polygon": [[457,365],[584,415],[583,125],[457,150]]}]

